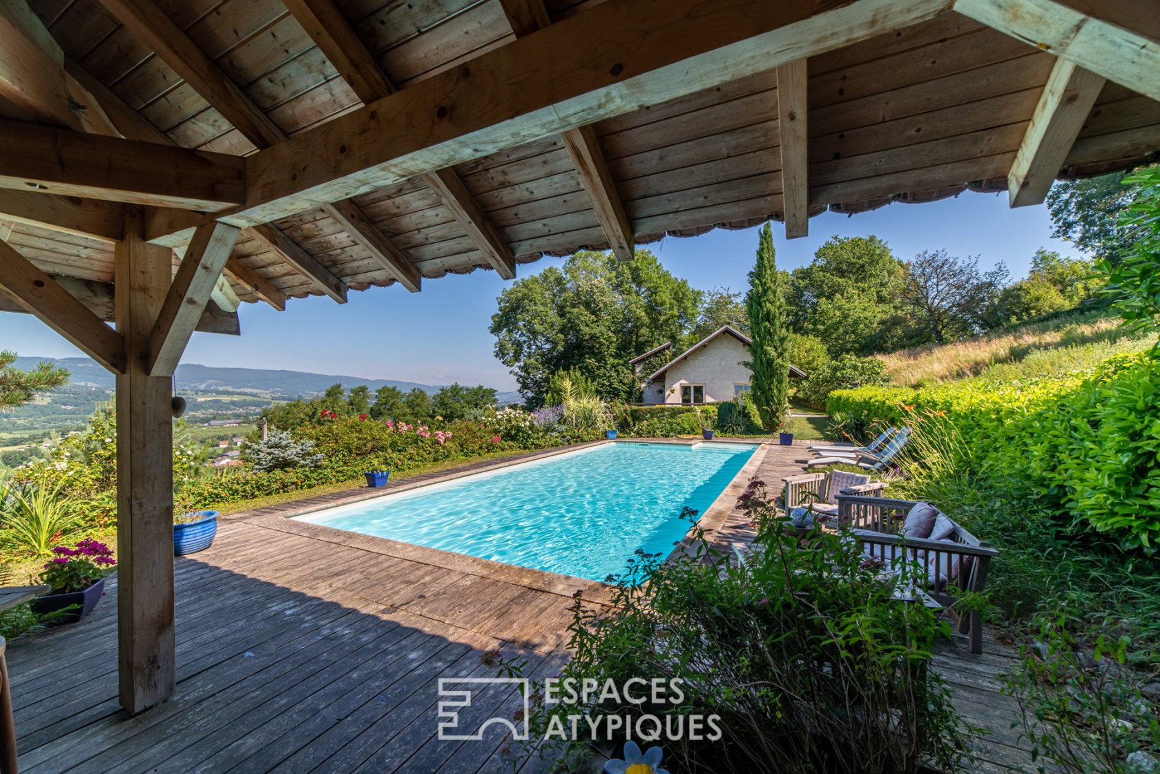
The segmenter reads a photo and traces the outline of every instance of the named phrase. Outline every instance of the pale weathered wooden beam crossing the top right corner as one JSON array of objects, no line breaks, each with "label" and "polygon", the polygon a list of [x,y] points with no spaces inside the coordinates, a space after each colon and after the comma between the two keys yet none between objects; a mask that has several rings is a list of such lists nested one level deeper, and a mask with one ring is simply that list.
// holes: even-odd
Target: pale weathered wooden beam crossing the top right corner
[{"label": "pale weathered wooden beam crossing the top right corner", "polygon": [[955,10],[1160,100],[1154,0],[956,0]]}]

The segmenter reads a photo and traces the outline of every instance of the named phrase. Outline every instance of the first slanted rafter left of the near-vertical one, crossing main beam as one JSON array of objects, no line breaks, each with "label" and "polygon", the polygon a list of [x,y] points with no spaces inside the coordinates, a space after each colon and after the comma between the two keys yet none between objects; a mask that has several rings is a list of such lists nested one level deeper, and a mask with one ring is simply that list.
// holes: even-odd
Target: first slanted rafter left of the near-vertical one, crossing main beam
[{"label": "first slanted rafter left of the near-vertical one, crossing main beam", "polygon": [[[501,0],[503,14],[516,37],[523,37],[552,23],[543,0]],[[622,261],[633,256],[632,223],[616,190],[616,182],[600,147],[596,131],[589,126],[570,129],[560,135],[575,167],[580,185],[588,194],[596,219],[608,238],[612,253]]]}]

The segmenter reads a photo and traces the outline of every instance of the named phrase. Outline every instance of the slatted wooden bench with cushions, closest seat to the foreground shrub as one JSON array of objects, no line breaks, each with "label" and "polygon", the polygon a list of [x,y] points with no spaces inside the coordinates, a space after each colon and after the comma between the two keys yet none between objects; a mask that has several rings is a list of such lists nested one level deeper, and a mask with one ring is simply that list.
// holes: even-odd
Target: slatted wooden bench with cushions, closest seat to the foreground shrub
[{"label": "slatted wooden bench with cushions, closest seat to the foreground shrub", "polygon": [[[957,587],[960,592],[981,593],[987,584],[991,559],[999,556],[999,551],[954,520],[955,530],[944,540],[899,535],[898,529],[906,513],[915,505],[914,500],[839,494],[838,519],[841,525],[853,528],[868,556],[880,558],[887,566],[904,559],[927,567],[920,580],[922,591],[955,620],[958,632],[967,636],[971,652],[981,653],[983,616],[976,609],[965,614],[956,610],[958,599],[951,589]],[[933,574],[930,567],[934,567]]]}]

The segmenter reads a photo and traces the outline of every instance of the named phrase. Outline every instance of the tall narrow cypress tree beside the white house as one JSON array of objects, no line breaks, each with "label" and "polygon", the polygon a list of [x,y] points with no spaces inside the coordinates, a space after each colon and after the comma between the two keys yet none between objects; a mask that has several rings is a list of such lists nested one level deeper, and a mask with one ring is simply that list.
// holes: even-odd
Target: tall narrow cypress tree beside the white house
[{"label": "tall narrow cypress tree beside the white house", "polygon": [[774,259],[774,232],[767,222],[757,241],[757,263],[749,272],[745,309],[749,313],[751,395],[761,424],[775,431],[789,402],[790,332],[783,279]]}]

